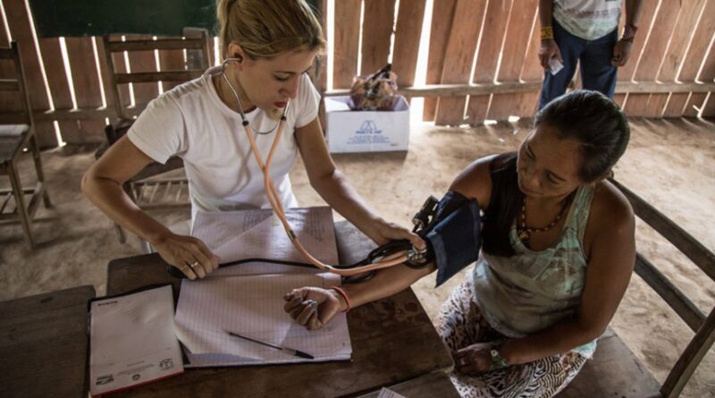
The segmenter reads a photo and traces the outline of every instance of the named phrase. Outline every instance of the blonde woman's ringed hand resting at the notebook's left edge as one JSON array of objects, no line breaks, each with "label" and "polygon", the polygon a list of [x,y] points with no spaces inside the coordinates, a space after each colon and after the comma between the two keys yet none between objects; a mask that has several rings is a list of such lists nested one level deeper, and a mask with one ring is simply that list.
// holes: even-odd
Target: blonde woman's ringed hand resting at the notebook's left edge
[{"label": "blonde woman's ringed hand resting at the notebook's left edge", "polygon": [[203,278],[218,268],[220,258],[193,236],[167,233],[152,244],[164,261],[179,268],[191,280]]}]

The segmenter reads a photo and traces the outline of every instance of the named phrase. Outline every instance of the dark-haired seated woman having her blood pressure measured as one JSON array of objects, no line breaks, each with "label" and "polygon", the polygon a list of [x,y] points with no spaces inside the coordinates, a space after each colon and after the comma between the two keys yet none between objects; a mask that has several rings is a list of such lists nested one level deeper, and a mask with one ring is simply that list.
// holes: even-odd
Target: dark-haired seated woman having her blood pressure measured
[{"label": "dark-haired seated woman having her blood pressure measured", "polygon": [[[462,396],[549,397],[592,357],[635,262],[633,209],[606,180],[628,138],[613,101],[574,91],[536,114],[517,153],[478,159],[451,184],[484,212],[480,258],[437,320]],[[304,287],[285,296],[285,310],[320,328],[434,269],[402,265],[343,289]]]}]

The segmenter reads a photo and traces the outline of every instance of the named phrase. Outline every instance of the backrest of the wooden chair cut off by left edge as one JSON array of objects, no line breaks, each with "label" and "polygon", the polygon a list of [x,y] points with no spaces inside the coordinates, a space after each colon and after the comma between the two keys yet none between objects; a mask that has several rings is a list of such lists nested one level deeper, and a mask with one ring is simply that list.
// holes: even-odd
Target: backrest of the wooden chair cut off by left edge
[{"label": "backrest of the wooden chair cut off by left edge", "polygon": [[0,48],[0,124],[31,126],[31,109],[20,48],[13,41],[11,47]]}]

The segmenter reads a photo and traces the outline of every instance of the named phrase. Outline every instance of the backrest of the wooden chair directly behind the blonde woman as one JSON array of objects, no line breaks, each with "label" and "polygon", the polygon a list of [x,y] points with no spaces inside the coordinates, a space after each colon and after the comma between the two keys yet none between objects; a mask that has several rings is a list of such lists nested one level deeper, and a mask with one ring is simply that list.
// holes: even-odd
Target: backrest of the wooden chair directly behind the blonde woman
[{"label": "backrest of the wooden chair directly behind the blonde woman", "polygon": [[[139,114],[147,104],[135,104],[128,107],[122,104],[120,97],[120,87],[130,83],[147,82],[183,82],[200,77],[210,64],[210,46],[208,33],[201,30],[195,38],[157,38],[155,39],[130,39],[127,41],[112,41],[109,37],[104,37],[105,56],[107,70],[110,79],[111,95],[114,99],[114,106],[117,116],[120,119],[130,119],[133,115]],[[187,62],[181,70],[168,70],[161,72],[118,72],[123,68],[118,68],[114,64],[115,53],[134,51],[154,51],[154,50],[186,50]],[[198,56],[197,56],[198,55]]]}]

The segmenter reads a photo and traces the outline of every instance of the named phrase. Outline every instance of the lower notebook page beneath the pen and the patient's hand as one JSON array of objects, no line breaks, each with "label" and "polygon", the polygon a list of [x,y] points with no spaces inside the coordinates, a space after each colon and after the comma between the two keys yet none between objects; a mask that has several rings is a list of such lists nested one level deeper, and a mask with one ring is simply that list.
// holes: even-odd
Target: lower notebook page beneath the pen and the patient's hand
[{"label": "lower notebook page beneath the pen and the patient's hand", "polygon": [[[176,313],[176,332],[190,366],[246,365],[349,360],[348,323],[339,314],[323,329],[308,331],[283,311],[283,294],[301,286],[340,284],[332,274],[248,275],[185,280]],[[285,351],[231,337],[225,331],[305,351],[305,360]]]}]

